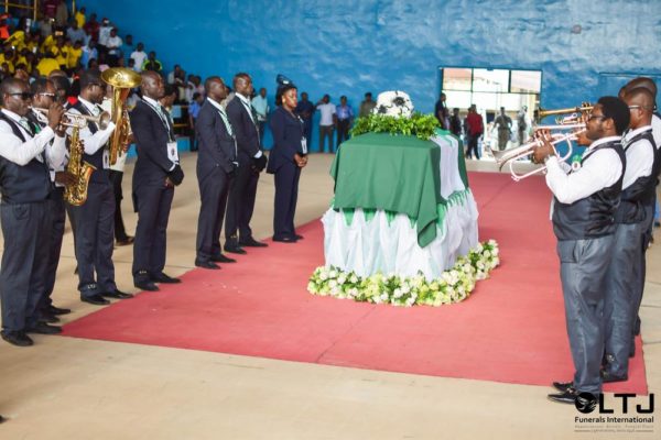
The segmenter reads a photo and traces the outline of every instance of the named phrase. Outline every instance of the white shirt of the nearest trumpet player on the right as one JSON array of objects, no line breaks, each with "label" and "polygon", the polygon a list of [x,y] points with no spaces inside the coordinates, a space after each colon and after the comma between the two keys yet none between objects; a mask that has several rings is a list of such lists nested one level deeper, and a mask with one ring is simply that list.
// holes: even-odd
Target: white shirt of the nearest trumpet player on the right
[{"label": "white shirt of the nearest trumpet player on the right", "polygon": [[[583,157],[597,146],[620,139],[599,139],[583,152]],[[568,205],[614,185],[622,174],[622,163],[614,150],[606,148],[592,153],[578,170],[570,174],[561,167],[556,156],[551,156],[546,160],[546,185],[560,202]]]}]

